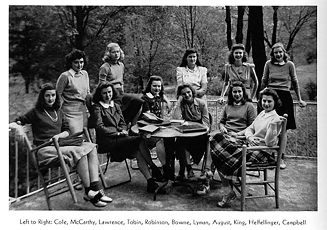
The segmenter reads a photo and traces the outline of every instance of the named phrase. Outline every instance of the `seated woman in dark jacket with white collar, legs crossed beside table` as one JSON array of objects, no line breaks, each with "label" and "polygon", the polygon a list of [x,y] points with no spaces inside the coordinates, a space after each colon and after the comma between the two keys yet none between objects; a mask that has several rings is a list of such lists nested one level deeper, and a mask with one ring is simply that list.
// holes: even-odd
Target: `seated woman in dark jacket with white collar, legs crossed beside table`
[{"label": "seated woman in dark jacket with white collar, legs crossed beside table", "polygon": [[[141,136],[129,137],[127,126],[119,105],[113,102],[116,91],[109,82],[100,83],[92,98],[90,127],[95,127],[98,152],[110,152],[111,162],[137,159],[137,165],[148,181],[147,191],[152,193],[158,187],[155,180],[163,180],[161,171],[153,163],[150,151]],[[149,167],[152,169],[152,175]]]}]

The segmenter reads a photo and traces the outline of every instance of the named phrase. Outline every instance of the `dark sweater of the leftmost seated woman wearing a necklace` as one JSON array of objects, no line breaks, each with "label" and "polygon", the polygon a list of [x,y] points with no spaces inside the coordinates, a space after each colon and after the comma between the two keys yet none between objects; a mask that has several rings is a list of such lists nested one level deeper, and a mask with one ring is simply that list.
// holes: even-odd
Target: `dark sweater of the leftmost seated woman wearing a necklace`
[{"label": "dark sweater of the leftmost seated woman wearing a necklace", "polygon": [[[55,118],[55,112],[52,108],[45,108],[51,117]],[[22,125],[31,124],[33,132],[33,143],[35,145],[43,144],[49,141],[54,135],[64,131],[71,133],[69,123],[61,109],[56,110],[58,120],[52,121],[44,110],[31,109],[25,115],[19,116],[15,121],[20,121]]]}]

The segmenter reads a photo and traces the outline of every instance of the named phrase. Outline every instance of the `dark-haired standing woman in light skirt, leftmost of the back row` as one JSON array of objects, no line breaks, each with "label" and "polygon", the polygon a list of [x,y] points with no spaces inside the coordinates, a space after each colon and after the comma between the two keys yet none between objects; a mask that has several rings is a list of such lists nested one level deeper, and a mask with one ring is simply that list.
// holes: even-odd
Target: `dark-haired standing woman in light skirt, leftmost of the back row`
[{"label": "dark-haired standing woman in light skirt, leftmost of the back row", "polygon": [[87,109],[91,106],[88,74],[83,67],[87,58],[83,51],[74,49],[65,56],[67,71],[57,80],[57,93],[61,109],[67,117],[72,134],[87,127]]}]

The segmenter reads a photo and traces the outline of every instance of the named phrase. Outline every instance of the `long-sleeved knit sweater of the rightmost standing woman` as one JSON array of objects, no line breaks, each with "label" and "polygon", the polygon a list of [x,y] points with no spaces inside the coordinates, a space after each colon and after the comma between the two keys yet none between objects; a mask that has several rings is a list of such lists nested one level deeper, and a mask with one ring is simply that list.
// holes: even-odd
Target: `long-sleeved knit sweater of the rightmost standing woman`
[{"label": "long-sleeved knit sweater of the rightmost standing woman", "polygon": [[293,62],[287,61],[284,65],[275,65],[269,60],[265,64],[261,89],[269,87],[272,89],[289,91],[290,80],[294,90],[298,90],[299,85]]}]

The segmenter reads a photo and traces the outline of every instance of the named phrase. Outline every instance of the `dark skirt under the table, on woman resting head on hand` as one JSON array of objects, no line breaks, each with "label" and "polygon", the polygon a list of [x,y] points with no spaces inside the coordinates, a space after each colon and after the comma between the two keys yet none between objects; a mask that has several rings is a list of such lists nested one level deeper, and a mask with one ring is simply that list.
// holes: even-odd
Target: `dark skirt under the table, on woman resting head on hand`
[{"label": "dark skirt under the table, on woman resting head on hand", "polygon": [[184,153],[184,149],[190,152],[193,162],[199,164],[206,150],[208,136],[202,135],[199,137],[178,137],[175,142],[176,155],[179,158],[180,154]]}]

